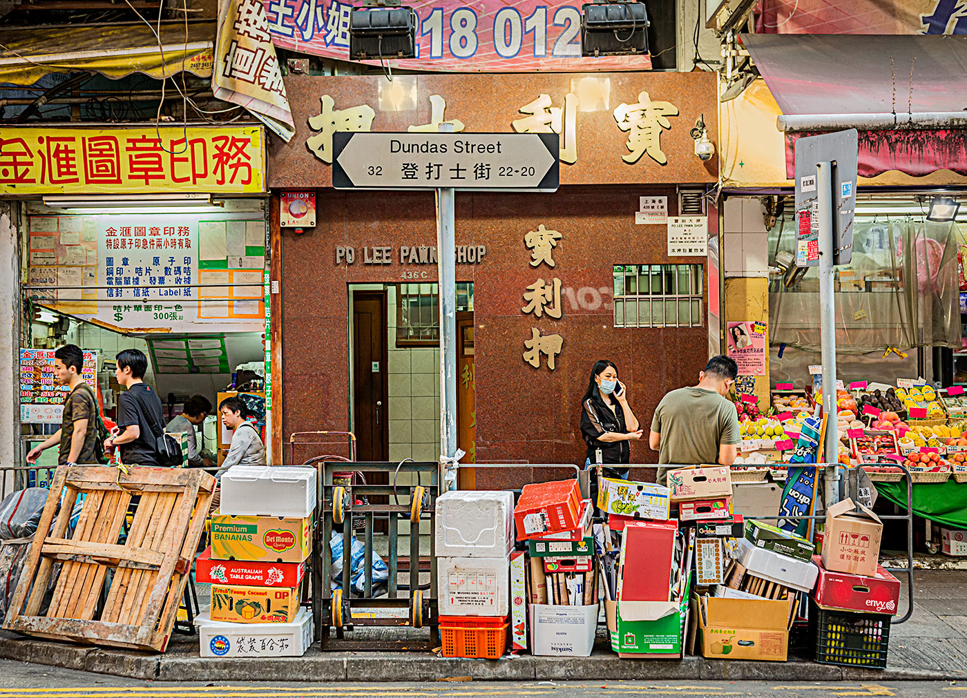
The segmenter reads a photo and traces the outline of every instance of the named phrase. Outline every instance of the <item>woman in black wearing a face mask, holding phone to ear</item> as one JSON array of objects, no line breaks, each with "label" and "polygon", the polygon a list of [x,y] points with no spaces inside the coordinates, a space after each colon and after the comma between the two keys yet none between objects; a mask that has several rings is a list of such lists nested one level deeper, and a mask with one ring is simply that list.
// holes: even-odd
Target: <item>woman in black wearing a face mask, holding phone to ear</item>
[{"label": "woman in black wearing a face mask, holding phone to ear", "polygon": [[[585,466],[601,462],[608,478],[628,478],[631,458],[630,442],[641,438],[638,420],[628,404],[628,388],[618,380],[613,362],[598,361],[591,369],[588,391],[581,400],[581,436],[588,445]],[[614,467],[618,466],[618,467]]]}]

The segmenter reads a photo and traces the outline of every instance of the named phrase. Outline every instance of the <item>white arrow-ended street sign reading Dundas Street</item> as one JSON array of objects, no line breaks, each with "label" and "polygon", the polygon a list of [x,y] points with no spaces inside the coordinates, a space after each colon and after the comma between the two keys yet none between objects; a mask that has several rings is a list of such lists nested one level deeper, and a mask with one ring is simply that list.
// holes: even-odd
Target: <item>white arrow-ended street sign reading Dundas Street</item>
[{"label": "white arrow-ended street sign reading Dundas Street", "polygon": [[555,191],[557,133],[333,134],[336,189]]}]

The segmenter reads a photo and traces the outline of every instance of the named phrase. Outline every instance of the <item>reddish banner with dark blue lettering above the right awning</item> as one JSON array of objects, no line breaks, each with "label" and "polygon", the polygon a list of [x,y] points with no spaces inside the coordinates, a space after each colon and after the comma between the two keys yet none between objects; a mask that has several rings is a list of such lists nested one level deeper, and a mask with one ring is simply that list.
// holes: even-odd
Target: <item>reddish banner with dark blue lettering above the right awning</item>
[{"label": "reddish banner with dark blue lettering above the right awning", "polygon": [[758,34],[967,34],[957,0],[763,0]]}]

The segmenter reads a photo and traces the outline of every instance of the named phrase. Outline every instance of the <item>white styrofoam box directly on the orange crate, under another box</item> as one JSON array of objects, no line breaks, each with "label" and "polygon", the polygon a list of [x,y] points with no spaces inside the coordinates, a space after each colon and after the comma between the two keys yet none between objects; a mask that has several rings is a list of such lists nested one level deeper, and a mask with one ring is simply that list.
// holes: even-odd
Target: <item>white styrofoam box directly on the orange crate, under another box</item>
[{"label": "white styrofoam box directly on the orange crate, under another box", "polygon": [[506,616],[511,564],[502,558],[437,558],[441,616]]}]

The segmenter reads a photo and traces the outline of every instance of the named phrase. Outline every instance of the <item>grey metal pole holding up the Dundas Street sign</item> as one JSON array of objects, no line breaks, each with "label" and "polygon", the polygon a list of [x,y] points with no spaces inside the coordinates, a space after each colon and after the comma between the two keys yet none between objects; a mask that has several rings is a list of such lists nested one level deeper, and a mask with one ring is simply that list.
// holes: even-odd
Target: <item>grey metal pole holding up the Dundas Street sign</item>
[{"label": "grey metal pole holding up the Dundas Street sign", "polygon": [[[440,124],[453,133],[453,124]],[[436,190],[436,252],[440,286],[440,455],[456,454],[456,240],[454,189]],[[442,476],[441,476],[442,477]]]}]

